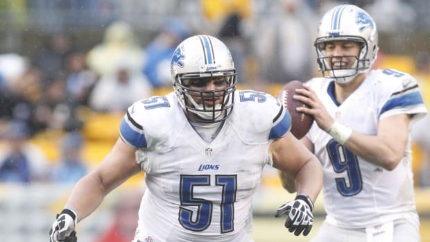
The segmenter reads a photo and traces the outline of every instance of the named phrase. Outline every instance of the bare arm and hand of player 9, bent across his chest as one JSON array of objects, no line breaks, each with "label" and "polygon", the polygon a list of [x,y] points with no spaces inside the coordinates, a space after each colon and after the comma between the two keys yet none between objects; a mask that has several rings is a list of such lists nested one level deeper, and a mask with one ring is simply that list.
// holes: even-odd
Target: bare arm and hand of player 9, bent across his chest
[{"label": "bare arm and hand of player 9, bent across his chest", "polygon": [[[298,111],[311,114],[318,126],[327,131],[334,123],[333,117],[327,112],[315,92],[309,87],[305,88],[297,90],[303,96],[298,96],[296,99],[306,103],[310,108],[298,107]],[[352,130],[351,136],[344,145],[355,155],[391,171],[404,155],[410,120],[408,114],[386,117],[379,121],[377,135],[363,135]]]}]

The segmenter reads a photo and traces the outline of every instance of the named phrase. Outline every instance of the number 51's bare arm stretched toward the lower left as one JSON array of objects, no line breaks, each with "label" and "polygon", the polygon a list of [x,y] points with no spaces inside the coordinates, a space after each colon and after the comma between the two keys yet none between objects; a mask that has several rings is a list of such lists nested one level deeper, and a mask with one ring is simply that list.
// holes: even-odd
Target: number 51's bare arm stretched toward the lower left
[{"label": "number 51's bare arm stretched toward the lower left", "polygon": [[107,193],[141,171],[135,151],[118,139],[103,162],[76,183],[65,207],[73,209],[79,221],[92,214]]}]

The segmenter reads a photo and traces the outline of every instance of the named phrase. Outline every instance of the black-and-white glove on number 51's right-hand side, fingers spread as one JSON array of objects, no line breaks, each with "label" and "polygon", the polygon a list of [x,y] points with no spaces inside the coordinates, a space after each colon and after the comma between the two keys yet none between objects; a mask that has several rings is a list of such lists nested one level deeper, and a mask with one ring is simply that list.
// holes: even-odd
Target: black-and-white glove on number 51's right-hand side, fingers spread
[{"label": "black-and-white glove on number 51's right-hand side, fingers spread", "polygon": [[309,196],[300,194],[295,197],[295,200],[286,202],[279,207],[275,217],[287,214],[285,227],[289,229],[289,232],[294,232],[296,236],[303,232],[303,235],[306,236],[311,231],[313,225],[312,210],[312,200]]}]

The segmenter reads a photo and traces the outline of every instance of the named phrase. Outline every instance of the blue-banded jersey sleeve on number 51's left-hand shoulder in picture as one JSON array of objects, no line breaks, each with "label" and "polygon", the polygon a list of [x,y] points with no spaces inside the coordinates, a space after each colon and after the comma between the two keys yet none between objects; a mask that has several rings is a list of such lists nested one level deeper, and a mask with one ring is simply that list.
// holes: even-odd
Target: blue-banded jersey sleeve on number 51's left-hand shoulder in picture
[{"label": "blue-banded jersey sleeve on number 51's left-hand shoulder in picture", "polygon": [[143,107],[139,101],[128,107],[119,128],[121,139],[135,148],[146,148],[144,128],[138,119],[142,116],[141,108]]}]

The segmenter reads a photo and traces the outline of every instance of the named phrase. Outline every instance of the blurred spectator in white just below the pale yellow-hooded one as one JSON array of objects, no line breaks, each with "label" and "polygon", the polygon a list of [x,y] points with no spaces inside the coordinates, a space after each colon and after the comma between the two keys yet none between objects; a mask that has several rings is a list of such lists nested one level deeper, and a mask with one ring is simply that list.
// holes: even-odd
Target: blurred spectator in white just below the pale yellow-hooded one
[{"label": "blurred spectator in white just below the pale yellow-hooded one", "polygon": [[153,87],[141,71],[119,66],[113,74],[105,74],[89,94],[89,107],[96,112],[125,112],[135,101],[148,98]]}]

